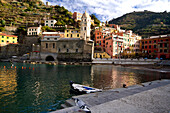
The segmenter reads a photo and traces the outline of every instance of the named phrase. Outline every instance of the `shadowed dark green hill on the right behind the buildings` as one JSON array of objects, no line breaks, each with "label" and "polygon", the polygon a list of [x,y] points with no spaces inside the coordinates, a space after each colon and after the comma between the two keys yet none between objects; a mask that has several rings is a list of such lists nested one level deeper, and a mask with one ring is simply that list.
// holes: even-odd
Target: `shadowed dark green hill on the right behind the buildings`
[{"label": "shadowed dark green hill on the right behind the buildings", "polygon": [[170,34],[170,12],[132,12],[112,19],[109,24],[118,24],[122,29],[130,29],[143,38]]}]

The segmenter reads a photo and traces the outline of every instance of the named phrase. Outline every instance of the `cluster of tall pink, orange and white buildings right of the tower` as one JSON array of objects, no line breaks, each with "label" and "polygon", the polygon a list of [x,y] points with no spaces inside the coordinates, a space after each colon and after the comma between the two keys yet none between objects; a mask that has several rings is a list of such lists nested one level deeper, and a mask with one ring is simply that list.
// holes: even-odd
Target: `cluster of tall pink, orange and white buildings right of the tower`
[{"label": "cluster of tall pink, orange and white buildings right of the tower", "polygon": [[128,50],[127,54],[131,53],[129,50],[138,52],[140,39],[141,37],[133,34],[131,30],[121,30],[115,24],[95,29],[95,47],[101,48],[112,58],[122,57],[125,50]]}]

